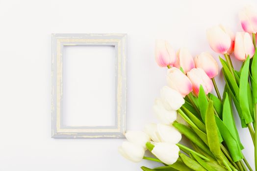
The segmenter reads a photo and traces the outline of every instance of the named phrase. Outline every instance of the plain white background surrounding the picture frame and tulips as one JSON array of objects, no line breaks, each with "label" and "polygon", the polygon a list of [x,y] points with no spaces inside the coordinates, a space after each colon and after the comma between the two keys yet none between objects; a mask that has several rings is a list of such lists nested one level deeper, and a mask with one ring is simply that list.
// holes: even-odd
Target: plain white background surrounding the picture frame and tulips
[{"label": "plain white background surrounding the picture frame and tulips", "polygon": [[[154,62],[154,40],[186,46],[194,56],[211,51],[206,28],[223,23],[241,31],[238,10],[253,1],[0,0],[0,171],[157,166],[122,158],[117,147],[123,139],[51,139],[51,33],[128,34],[128,129],[142,129],[156,122],[152,105],[166,84],[166,68]],[[92,65],[103,69],[98,59]],[[239,132],[253,166],[250,134]]]}]

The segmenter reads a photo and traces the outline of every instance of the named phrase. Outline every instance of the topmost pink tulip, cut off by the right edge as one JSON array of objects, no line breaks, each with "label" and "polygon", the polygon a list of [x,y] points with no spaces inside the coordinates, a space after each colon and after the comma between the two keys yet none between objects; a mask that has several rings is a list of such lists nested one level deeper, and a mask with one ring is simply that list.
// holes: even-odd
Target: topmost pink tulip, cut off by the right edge
[{"label": "topmost pink tulip, cut off by the right edge", "polygon": [[257,12],[252,6],[246,6],[239,12],[239,20],[245,32],[257,32]]}]

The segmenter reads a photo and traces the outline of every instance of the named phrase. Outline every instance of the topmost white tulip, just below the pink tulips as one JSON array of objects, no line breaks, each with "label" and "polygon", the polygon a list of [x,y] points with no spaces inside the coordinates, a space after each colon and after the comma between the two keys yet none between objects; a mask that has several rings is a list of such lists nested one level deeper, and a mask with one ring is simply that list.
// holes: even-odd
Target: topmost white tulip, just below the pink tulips
[{"label": "topmost white tulip, just below the pink tulips", "polygon": [[172,110],[178,110],[185,103],[181,94],[168,86],[162,87],[160,95],[162,100],[169,104]]}]

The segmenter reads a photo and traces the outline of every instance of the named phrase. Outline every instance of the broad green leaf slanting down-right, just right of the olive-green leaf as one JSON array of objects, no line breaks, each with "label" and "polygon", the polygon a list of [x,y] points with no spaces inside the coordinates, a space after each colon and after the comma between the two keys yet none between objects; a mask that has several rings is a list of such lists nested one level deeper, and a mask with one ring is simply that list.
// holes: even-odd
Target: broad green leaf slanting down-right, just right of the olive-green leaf
[{"label": "broad green leaf slanting down-right, just right of the olive-green leaf", "polygon": [[215,117],[217,126],[221,132],[222,137],[224,138],[226,145],[228,146],[228,149],[231,153],[231,157],[234,162],[237,162],[241,159],[243,159],[243,154],[241,152],[241,148],[237,142],[237,138],[234,137],[229,128],[222,122],[221,119],[218,117]]}]

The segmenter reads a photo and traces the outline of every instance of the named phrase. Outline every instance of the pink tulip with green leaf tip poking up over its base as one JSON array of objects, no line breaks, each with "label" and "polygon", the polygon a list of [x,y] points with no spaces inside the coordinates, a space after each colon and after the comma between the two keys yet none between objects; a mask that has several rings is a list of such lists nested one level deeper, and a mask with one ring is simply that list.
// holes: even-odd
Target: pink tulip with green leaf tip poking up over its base
[{"label": "pink tulip with green leaf tip poking up over its base", "polygon": [[203,86],[205,93],[212,90],[212,82],[202,68],[193,68],[187,73],[187,77],[193,85],[193,93],[198,96],[200,85]]}]

